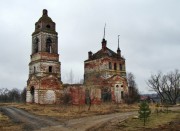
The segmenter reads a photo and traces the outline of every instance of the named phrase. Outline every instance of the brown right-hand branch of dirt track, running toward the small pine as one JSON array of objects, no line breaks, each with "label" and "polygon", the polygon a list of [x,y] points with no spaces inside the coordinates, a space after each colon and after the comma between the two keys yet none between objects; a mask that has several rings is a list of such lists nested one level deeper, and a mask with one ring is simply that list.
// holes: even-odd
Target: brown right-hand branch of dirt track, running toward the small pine
[{"label": "brown right-hand branch of dirt track, running toward the small pine", "polygon": [[94,131],[112,119],[125,120],[135,112],[115,113],[108,115],[90,116],[66,121],[64,125],[41,129],[41,131]]}]

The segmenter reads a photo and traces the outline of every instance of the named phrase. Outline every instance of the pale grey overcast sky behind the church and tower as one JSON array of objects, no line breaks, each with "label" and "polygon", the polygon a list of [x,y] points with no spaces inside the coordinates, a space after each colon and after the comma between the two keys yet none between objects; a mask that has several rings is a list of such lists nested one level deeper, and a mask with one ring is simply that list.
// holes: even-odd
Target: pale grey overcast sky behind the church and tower
[{"label": "pale grey overcast sky behind the church and tower", "polygon": [[26,86],[34,24],[47,9],[56,23],[62,80],[72,70],[83,78],[88,51],[101,48],[106,23],[107,46],[120,49],[126,70],[132,72],[141,93],[158,71],[180,69],[179,0],[1,0],[0,88]]}]

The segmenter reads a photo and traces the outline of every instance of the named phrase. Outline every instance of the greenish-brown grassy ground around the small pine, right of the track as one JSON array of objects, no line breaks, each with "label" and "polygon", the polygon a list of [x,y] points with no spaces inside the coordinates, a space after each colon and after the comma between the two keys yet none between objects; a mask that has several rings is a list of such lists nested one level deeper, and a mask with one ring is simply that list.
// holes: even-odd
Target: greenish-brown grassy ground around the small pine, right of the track
[{"label": "greenish-brown grassy ground around the small pine, right of the track", "polygon": [[[173,108],[174,109],[174,108]],[[180,131],[180,108],[177,111],[153,113],[145,126],[137,117],[113,119],[101,125],[96,131]]]}]

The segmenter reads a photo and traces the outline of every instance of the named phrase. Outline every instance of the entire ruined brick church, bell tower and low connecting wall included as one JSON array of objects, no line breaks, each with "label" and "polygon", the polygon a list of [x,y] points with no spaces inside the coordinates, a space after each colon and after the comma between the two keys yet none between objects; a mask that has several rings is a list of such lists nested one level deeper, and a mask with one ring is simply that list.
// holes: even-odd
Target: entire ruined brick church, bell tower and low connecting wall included
[{"label": "entire ruined brick church, bell tower and low connecting wall included", "polygon": [[102,48],[94,54],[88,52],[84,61],[84,84],[63,84],[56,24],[44,9],[32,33],[26,102],[57,104],[63,102],[65,93],[71,97],[72,104],[123,102],[128,84],[119,43],[117,52],[107,47],[105,38],[101,44]]}]

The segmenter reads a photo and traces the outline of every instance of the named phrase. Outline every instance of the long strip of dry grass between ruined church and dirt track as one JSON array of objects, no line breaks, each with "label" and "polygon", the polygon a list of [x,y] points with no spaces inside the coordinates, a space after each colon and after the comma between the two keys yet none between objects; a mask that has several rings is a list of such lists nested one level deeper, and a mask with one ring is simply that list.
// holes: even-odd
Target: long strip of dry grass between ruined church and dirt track
[{"label": "long strip of dry grass between ruined church and dirt track", "polygon": [[38,104],[17,104],[6,103],[1,104],[4,106],[13,106],[20,109],[24,109],[28,112],[37,115],[45,115],[59,118],[79,118],[91,115],[110,114],[115,112],[127,112],[135,111],[138,109],[138,105],[126,105],[126,104],[113,104],[103,103],[100,105],[92,105],[90,111],[88,111],[87,105],[75,106],[75,105],[38,105]]}]

